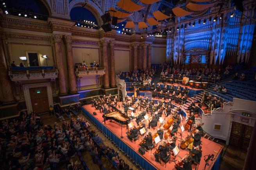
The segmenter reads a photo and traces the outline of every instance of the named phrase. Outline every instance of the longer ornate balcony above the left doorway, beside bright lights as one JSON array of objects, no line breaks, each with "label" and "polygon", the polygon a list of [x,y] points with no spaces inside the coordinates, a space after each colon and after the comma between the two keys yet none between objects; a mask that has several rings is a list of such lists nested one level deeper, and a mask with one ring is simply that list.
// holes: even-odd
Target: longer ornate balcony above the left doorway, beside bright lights
[{"label": "longer ornate balcony above the left doorway, beside bright lights", "polygon": [[11,67],[9,77],[11,81],[56,79],[58,70],[54,67]]}]

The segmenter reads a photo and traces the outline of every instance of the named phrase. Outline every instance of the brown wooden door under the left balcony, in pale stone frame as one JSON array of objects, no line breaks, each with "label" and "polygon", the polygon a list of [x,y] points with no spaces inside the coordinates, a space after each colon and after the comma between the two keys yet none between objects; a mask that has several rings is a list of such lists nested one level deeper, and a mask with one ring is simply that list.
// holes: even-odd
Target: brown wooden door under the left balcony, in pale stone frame
[{"label": "brown wooden door under the left balcony, in pale stone frame", "polygon": [[30,88],[29,93],[34,112],[41,113],[49,110],[47,87]]}]

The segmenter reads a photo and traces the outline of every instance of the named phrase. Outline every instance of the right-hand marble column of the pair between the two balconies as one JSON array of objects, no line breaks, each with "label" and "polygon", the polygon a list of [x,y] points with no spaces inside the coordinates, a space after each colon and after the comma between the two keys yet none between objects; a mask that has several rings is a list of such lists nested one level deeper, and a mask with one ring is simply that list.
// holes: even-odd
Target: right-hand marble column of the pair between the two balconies
[{"label": "right-hand marble column of the pair between the two balconies", "polygon": [[75,79],[74,61],[73,61],[73,50],[72,50],[72,36],[65,35],[66,42],[66,57],[68,66],[68,87],[71,94],[77,93],[77,85]]}]

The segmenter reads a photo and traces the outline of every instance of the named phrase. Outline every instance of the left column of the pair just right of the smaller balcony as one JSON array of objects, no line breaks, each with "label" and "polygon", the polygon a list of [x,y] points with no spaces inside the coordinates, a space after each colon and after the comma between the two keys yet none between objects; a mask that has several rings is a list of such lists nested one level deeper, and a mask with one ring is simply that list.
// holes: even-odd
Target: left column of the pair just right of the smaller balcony
[{"label": "left column of the pair just right of the smaller balcony", "polygon": [[108,68],[108,57],[107,57],[107,40],[101,40],[100,44],[102,45],[102,52],[103,52],[103,66],[106,68],[104,74],[104,88],[109,88],[109,68]]}]

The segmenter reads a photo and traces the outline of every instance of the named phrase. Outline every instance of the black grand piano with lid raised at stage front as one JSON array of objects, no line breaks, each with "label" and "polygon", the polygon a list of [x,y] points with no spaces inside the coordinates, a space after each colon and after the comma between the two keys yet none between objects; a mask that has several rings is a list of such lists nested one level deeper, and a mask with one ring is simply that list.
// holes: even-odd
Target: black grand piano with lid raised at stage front
[{"label": "black grand piano with lid raised at stage front", "polygon": [[110,108],[110,110],[114,110],[113,112],[109,112],[107,114],[103,114],[102,117],[106,120],[114,120],[120,124],[128,124],[130,123],[130,117],[126,116],[124,113],[122,113],[121,110],[116,109],[115,107],[108,105]]}]

